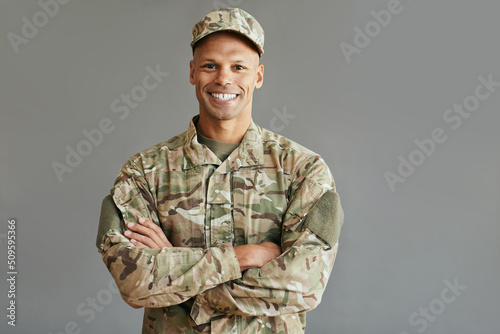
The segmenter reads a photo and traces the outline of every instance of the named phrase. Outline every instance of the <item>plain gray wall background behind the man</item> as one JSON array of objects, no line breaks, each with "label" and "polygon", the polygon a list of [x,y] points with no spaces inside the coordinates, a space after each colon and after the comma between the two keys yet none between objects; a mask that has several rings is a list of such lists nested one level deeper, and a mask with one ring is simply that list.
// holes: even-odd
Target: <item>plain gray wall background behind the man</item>
[{"label": "plain gray wall background behind the man", "polygon": [[[354,45],[354,28],[364,30],[370,11],[388,3],[74,0],[16,53],[7,34],[21,35],[22,17],[33,22],[41,7],[2,0],[0,277],[14,217],[18,308],[12,328],[2,278],[0,332],[56,334],[72,322],[77,333],[140,332],[142,310],[107,288],[94,244],[101,200],[126,159],[184,131],[197,113],[191,28],[225,5],[249,11],[266,31],[254,120],[322,154],[346,212],[307,332],[498,333],[500,89],[456,130],[443,115],[474,94],[479,76],[500,81],[500,4],[401,0],[402,11],[348,62],[340,43]],[[169,75],[120,119],[113,100],[156,65]],[[295,115],[288,124],[275,119],[285,109]],[[75,149],[104,118],[113,131],[60,182],[51,164],[65,163],[66,146]],[[447,140],[391,191],[384,173],[397,173],[398,156],[408,159],[435,128]],[[440,302],[445,280],[467,287],[448,304]],[[77,311],[110,295],[93,319]],[[430,305],[445,309],[409,321]]]}]

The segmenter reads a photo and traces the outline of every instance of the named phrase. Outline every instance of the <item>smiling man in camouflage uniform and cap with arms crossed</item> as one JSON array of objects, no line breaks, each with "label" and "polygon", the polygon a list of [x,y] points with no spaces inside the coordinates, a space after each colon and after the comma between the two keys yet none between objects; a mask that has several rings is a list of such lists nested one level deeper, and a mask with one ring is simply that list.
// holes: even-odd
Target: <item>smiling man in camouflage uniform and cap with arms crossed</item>
[{"label": "smiling man in camouflage uniform and cap with arms crossed", "polygon": [[303,333],[343,212],[323,159],[252,121],[264,32],[240,9],[193,28],[199,115],[130,158],[97,247],[143,333]]}]

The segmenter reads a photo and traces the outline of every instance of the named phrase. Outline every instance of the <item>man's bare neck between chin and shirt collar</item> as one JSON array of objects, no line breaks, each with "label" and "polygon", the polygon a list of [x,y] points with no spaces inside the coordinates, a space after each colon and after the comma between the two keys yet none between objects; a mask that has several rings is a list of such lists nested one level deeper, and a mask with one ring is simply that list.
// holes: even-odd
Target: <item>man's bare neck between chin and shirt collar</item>
[{"label": "man's bare neck between chin and shirt collar", "polygon": [[196,128],[204,137],[222,143],[236,144],[241,142],[245,136],[251,121],[251,118],[245,120],[214,120],[200,114]]}]

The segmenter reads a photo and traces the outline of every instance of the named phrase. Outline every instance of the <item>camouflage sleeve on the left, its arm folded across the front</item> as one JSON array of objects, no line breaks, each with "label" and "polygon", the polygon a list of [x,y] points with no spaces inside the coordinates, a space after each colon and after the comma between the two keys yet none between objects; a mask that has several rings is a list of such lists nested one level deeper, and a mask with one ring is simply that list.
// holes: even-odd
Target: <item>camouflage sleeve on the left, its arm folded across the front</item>
[{"label": "camouflage sleeve on the left, its arm folded across the front", "polygon": [[230,245],[150,249],[134,246],[123,235],[125,223],[137,223],[139,217],[159,224],[152,195],[137,165],[130,161],[124,165],[111,192],[114,201],[110,197],[103,201],[97,247],[127,304],[148,308],[180,304],[241,277]]}]

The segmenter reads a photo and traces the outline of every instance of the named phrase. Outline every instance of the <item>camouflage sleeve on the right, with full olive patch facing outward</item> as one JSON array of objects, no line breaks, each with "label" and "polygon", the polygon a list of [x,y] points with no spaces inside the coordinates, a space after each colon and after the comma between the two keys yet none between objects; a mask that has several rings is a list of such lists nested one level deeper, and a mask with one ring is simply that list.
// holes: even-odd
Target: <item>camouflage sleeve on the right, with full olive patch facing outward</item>
[{"label": "camouflage sleeve on the right, with full olive patch facing outward", "polygon": [[[282,225],[283,253],[242,278],[207,290],[191,310],[197,324],[218,314],[279,316],[314,309],[335,261],[344,220],[333,178],[321,158],[303,172]],[[328,180],[331,180],[329,182]]]}]

